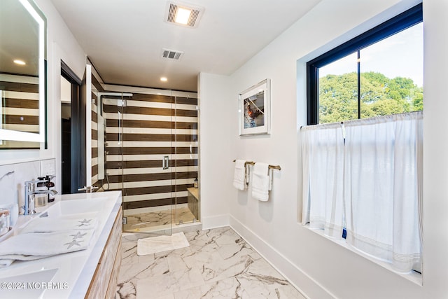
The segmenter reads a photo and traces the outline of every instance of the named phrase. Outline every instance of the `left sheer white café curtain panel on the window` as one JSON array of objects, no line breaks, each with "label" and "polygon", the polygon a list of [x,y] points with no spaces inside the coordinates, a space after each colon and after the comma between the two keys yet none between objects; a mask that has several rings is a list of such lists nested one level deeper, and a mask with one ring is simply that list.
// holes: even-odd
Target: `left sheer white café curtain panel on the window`
[{"label": "left sheer white caf\u00e9 curtain panel on the window", "polygon": [[344,139],[339,124],[302,127],[302,223],[342,237]]}]

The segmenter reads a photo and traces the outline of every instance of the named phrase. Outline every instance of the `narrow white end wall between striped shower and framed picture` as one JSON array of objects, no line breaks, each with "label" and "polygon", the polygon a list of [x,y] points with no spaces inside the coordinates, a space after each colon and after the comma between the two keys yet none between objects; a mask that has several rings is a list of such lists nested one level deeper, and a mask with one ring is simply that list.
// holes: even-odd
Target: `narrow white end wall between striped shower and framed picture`
[{"label": "narrow white end wall between striped shower and framed picture", "polygon": [[[203,228],[228,225],[232,188],[232,144],[230,134],[234,127],[232,113],[237,103],[229,90],[229,78],[200,74],[198,101],[200,105],[200,204]],[[233,172],[232,172],[233,174]]]}]

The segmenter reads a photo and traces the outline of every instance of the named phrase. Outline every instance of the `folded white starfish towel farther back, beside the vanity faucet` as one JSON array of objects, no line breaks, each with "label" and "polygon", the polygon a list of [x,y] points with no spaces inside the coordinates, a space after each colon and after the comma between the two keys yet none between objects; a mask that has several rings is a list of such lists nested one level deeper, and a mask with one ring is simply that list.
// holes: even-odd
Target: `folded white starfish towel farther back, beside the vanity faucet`
[{"label": "folded white starfish towel farther back, beside the vanity faucet", "polygon": [[97,226],[97,218],[76,219],[36,218],[23,228],[20,233],[60,232],[63,230],[92,230]]}]

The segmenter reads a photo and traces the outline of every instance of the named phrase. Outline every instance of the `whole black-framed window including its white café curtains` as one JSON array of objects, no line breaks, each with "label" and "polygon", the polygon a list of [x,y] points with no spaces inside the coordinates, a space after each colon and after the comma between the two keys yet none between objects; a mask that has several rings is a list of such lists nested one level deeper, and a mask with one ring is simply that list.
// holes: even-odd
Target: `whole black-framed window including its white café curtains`
[{"label": "whole black-framed window including its white caf\u00e9 curtains", "polygon": [[421,272],[421,4],[307,63],[302,224]]}]

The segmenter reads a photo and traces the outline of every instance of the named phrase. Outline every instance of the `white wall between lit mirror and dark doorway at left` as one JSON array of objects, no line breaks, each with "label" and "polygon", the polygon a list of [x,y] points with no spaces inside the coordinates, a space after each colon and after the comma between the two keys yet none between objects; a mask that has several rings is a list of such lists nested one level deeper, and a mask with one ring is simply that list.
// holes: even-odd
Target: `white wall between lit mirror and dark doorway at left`
[{"label": "white wall between lit mirror and dark doorway at left", "polygon": [[[56,189],[61,186],[61,60],[83,78],[85,52],[48,0],[34,0],[47,18],[48,149],[0,151],[0,165],[56,158]],[[29,176],[28,179],[36,179]]]}]

